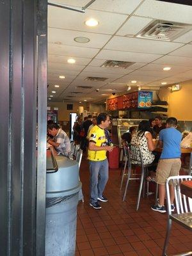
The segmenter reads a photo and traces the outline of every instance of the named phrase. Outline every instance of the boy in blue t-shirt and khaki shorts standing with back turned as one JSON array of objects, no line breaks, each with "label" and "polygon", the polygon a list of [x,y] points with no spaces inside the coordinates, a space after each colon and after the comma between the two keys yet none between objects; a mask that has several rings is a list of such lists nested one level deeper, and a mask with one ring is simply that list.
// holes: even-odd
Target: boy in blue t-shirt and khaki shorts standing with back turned
[{"label": "boy in blue t-shirt and khaki shorts standing with back turned", "polygon": [[[159,147],[163,147],[159,163],[156,170],[156,182],[159,184],[159,203],[151,207],[152,210],[158,212],[166,212],[164,207],[165,183],[170,176],[179,175],[180,170],[180,141],[182,134],[177,131],[177,119],[170,117],[166,120],[166,129],[159,133]],[[170,199],[172,211],[175,206],[173,185],[170,185]]]}]

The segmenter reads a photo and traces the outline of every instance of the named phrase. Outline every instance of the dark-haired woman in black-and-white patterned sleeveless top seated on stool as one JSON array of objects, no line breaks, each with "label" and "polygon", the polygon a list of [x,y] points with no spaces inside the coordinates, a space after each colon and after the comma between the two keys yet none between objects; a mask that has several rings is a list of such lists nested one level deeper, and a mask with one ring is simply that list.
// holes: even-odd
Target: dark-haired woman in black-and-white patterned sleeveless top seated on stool
[{"label": "dark-haired woman in black-and-white patterned sleeveless top seated on stool", "polygon": [[[143,157],[143,164],[152,164],[154,163],[155,156],[152,151],[156,148],[152,141],[152,134],[150,132],[150,124],[147,120],[143,120],[140,122],[138,131],[136,131],[131,139],[131,144],[136,144],[140,147],[141,154]],[[138,158],[140,157],[138,152]],[[138,164],[137,163],[133,164]]]}]

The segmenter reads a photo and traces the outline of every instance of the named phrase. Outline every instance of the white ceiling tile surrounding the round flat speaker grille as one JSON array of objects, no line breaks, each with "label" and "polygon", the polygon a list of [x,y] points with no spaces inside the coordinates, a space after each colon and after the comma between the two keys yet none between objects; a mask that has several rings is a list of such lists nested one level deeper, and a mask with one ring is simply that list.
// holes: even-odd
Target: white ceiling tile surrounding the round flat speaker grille
[{"label": "white ceiling tile surrounding the round flat speaker grille", "polygon": [[[74,38],[86,37],[90,39],[88,43],[77,43]],[[61,43],[63,45],[74,45],[77,47],[101,48],[108,42],[110,35],[102,35],[97,33],[87,33],[82,31],[73,31],[67,29],[48,28],[48,42]]]}]

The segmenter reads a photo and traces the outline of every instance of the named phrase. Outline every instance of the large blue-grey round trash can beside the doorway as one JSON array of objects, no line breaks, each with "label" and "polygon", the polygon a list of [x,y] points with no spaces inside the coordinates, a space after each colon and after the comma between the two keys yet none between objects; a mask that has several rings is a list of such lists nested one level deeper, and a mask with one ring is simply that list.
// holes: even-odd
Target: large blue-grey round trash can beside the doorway
[{"label": "large blue-grey round trash can beside the doorway", "polygon": [[[58,171],[47,171],[45,256],[74,256],[76,253],[79,167],[67,157],[55,157]],[[51,158],[47,165],[51,165]],[[48,168],[49,169],[49,168]]]}]

